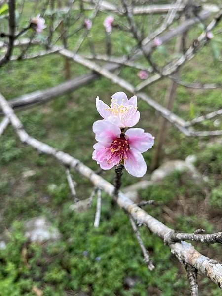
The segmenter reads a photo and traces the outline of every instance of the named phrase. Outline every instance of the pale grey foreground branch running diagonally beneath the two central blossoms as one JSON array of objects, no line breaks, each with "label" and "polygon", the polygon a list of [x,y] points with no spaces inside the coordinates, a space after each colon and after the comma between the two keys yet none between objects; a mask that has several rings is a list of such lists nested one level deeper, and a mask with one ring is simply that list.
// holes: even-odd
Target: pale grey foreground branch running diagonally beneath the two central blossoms
[{"label": "pale grey foreground branch running diagonally beneath the two central blossoms", "polygon": [[[94,184],[94,186],[101,188],[107,194],[113,197],[115,187],[101,176],[95,174],[89,167],[85,166],[78,159],[75,159],[68,153],[58,151],[55,148],[52,148],[51,146],[30,137],[24,130],[21,121],[14,114],[13,109],[1,94],[0,106],[5,116],[7,116],[10,120],[22,143],[30,145],[39,152],[53,156],[63,165],[74,168],[78,173],[88,178]],[[134,220],[146,225],[151,232],[158,235],[164,241],[167,241],[167,237],[169,237],[173,232],[173,229],[167,227],[162,222],[146,213],[143,209],[133,203],[132,200],[128,199],[122,192],[119,192],[116,202],[121,208],[132,215]],[[185,241],[176,243],[171,242],[169,247],[171,252],[178,258],[180,262],[185,262],[192,265],[198,270],[198,272],[207,276],[214,283],[216,283],[220,289],[222,289],[222,264],[200,254],[191,244],[188,244]]]}]

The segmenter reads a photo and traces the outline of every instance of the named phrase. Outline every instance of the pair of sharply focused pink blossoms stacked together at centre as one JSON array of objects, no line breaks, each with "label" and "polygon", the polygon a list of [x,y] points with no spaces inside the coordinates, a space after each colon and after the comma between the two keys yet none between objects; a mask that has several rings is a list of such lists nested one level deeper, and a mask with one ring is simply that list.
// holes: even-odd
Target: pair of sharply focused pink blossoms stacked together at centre
[{"label": "pair of sharply focused pink blossoms stacked together at centre", "polygon": [[142,153],[153,146],[154,137],[142,128],[127,129],[136,125],[140,119],[137,97],[128,100],[124,92],[117,92],[112,96],[111,106],[97,97],[96,108],[104,119],[93,124],[98,141],[93,146],[93,159],[104,170],[121,163],[129,174],[144,176],[147,164]]}]

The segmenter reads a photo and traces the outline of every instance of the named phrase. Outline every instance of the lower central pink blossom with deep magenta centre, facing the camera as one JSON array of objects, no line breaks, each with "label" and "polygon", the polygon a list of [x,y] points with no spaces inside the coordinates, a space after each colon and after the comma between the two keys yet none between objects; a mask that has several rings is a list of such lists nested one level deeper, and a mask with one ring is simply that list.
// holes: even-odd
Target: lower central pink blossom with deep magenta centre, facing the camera
[{"label": "lower central pink blossom with deep magenta centre, facing the camera", "polygon": [[154,137],[141,128],[130,128],[123,133],[115,125],[115,120],[94,122],[93,132],[98,143],[93,146],[93,159],[103,170],[109,170],[121,162],[129,174],[143,177],[147,165],[142,153],[153,146]]}]

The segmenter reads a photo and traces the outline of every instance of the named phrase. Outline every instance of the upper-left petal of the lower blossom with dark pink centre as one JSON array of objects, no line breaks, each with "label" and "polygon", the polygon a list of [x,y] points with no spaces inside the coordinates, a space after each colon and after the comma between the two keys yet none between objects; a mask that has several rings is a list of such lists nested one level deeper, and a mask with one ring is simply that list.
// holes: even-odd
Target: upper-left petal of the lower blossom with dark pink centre
[{"label": "upper-left petal of the lower blossom with dark pink centre", "polygon": [[93,123],[93,132],[96,134],[96,141],[103,144],[111,144],[112,140],[121,134],[119,127],[106,120],[95,121]]}]

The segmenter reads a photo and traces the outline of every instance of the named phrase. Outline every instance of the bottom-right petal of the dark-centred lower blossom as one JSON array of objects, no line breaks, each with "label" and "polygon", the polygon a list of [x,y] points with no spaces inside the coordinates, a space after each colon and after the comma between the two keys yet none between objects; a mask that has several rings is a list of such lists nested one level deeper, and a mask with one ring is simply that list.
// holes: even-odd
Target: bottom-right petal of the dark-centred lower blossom
[{"label": "bottom-right petal of the dark-centred lower blossom", "polygon": [[147,171],[147,164],[140,152],[130,149],[127,153],[128,158],[124,160],[127,172],[135,177],[143,177]]}]

